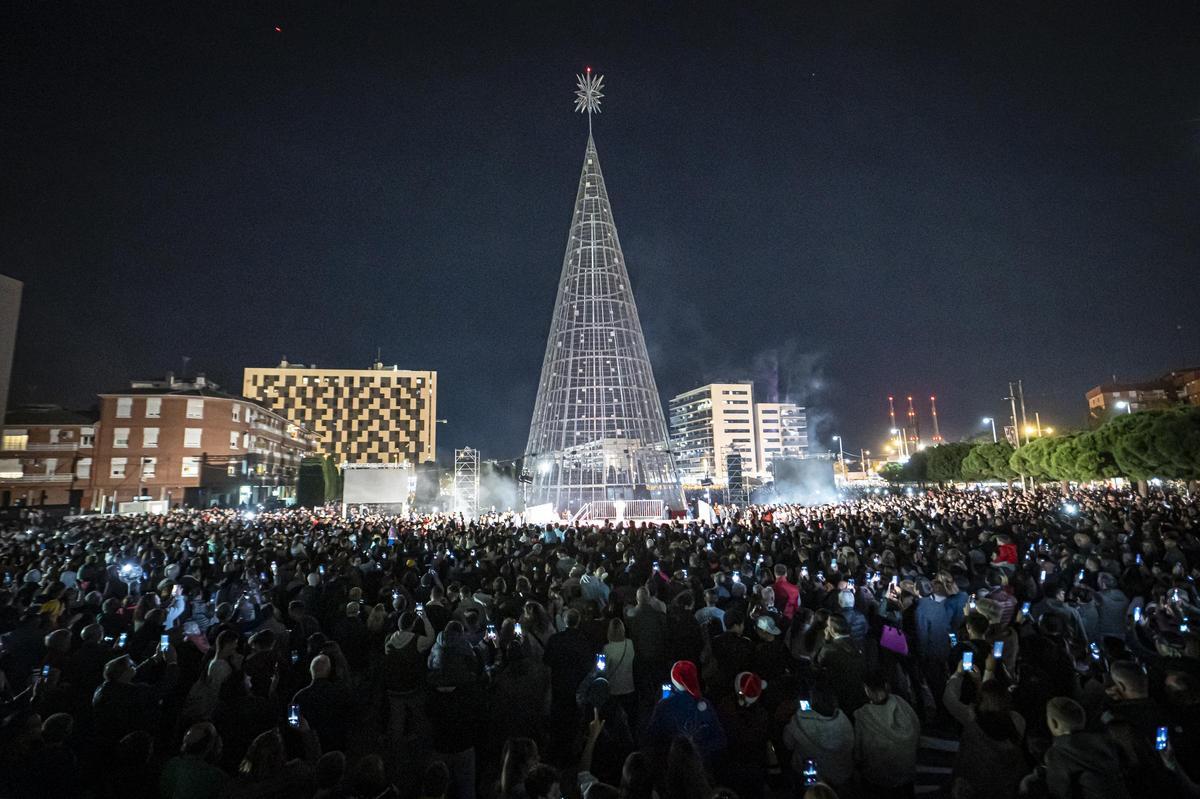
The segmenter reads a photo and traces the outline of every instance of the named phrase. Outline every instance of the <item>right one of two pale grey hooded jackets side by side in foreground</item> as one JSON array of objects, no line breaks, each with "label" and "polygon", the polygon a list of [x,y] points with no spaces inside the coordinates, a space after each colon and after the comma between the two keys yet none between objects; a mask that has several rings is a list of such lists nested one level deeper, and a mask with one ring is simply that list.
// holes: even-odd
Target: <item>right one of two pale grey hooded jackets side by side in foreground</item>
[{"label": "right one of two pale grey hooded jackets side by side in foreground", "polygon": [[907,785],[917,775],[920,719],[898,696],[854,711],[854,762],[871,785]]}]

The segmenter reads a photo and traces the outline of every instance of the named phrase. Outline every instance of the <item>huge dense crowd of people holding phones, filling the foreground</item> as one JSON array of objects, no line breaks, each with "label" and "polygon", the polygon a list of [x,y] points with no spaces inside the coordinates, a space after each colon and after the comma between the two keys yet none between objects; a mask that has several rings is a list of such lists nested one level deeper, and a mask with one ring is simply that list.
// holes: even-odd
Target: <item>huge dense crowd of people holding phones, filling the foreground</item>
[{"label": "huge dense crowd of people holding phones, filling the foreground", "polygon": [[[1200,500],[0,531],[0,795],[1200,795]],[[924,738],[923,738],[924,737]]]}]

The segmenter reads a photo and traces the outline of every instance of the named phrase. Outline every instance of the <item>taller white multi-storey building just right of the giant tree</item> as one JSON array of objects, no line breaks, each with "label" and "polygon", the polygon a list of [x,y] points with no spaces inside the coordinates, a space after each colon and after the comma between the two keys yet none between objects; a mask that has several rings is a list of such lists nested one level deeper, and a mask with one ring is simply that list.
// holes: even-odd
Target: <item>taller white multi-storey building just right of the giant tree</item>
[{"label": "taller white multi-storey building just right of the giant tree", "polygon": [[724,486],[727,458],[736,452],[742,471],[758,469],[754,386],[750,383],[710,383],[676,395],[670,402],[671,446],[684,488],[703,481]]}]

